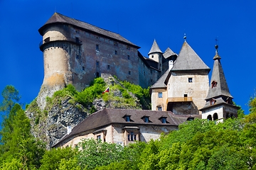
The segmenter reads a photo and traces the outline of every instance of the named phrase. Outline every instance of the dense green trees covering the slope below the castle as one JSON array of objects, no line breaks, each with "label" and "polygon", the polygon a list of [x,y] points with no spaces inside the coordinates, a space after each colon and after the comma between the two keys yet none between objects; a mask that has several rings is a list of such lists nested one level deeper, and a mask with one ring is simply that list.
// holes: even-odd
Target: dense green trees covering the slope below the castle
[{"label": "dense green trees covering the slope below the castle", "polygon": [[[91,90],[100,95],[102,89]],[[55,95],[78,95],[73,86],[58,93]],[[90,102],[90,97],[87,99]],[[5,110],[4,115],[8,114],[0,130],[0,169],[256,169],[256,98],[250,99],[249,115],[239,111],[239,118],[223,123],[188,121],[179,130],[148,143],[122,147],[91,139],[82,140],[75,148],[48,151],[31,135],[30,121],[17,101],[7,98],[4,103],[8,107],[1,103],[9,111]]]}]

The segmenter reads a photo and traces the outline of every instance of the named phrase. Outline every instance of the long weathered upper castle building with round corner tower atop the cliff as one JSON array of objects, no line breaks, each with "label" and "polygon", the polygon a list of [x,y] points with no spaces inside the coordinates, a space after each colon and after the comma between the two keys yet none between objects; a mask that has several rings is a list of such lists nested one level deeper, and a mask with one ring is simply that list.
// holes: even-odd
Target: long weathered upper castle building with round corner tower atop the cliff
[{"label": "long weathered upper castle building with round corner tower atop the cliff", "polygon": [[[161,76],[156,61],[146,61],[137,45],[121,35],[54,13],[39,29],[43,36],[44,79],[38,101],[73,84],[82,90],[102,73],[146,88]],[[156,67],[154,67],[156,65]],[[46,88],[45,88],[46,87]],[[42,103],[43,109],[45,103]]]}]

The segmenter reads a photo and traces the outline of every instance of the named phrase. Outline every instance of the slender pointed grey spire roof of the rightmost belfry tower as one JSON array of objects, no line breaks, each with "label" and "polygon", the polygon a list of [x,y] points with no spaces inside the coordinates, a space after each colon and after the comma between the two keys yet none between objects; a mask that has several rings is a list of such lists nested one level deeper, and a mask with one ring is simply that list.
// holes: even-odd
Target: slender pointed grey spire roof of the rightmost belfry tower
[{"label": "slender pointed grey spire roof of the rightmost belfry tower", "polygon": [[216,47],[216,54],[213,57],[214,64],[213,64],[213,72],[210,78],[210,88],[208,91],[208,96],[206,97],[206,101],[210,98],[218,98],[218,96],[226,96],[229,98],[233,98],[231,96],[228,84],[225,79],[225,75],[223,72],[223,67],[220,63],[220,56],[218,55],[218,46]]}]

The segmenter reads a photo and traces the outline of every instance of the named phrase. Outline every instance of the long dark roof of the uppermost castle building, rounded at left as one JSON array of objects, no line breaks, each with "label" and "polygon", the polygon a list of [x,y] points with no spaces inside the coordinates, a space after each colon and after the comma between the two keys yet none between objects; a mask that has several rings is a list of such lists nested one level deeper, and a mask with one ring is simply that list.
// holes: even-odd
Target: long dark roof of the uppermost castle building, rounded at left
[{"label": "long dark roof of the uppermost castle building, rounded at left", "polygon": [[140,48],[137,45],[134,45],[134,43],[130,42],[129,40],[123,38],[121,35],[117,34],[117,33],[113,33],[109,30],[104,30],[102,28],[98,28],[96,26],[92,26],[89,23],[85,23],[82,21],[78,21],[76,19],[73,18],[69,18],[68,16],[63,16],[60,13],[54,13],[53,16],[50,17],[50,19],[41,27],[39,28],[38,32],[43,36],[43,30],[49,26],[50,24],[54,24],[54,23],[66,23],[66,24],[70,24],[72,26],[76,26],[78,28],[82,28],[84,30],[89,30],[93,33],[97,33],[100,35],[104,35],[107,36],[108,38],[114,39],[114,40],[119,40],[121,42],[125,42],[129,45],[132,45],[134,47],[137,47],[138,49]]}]

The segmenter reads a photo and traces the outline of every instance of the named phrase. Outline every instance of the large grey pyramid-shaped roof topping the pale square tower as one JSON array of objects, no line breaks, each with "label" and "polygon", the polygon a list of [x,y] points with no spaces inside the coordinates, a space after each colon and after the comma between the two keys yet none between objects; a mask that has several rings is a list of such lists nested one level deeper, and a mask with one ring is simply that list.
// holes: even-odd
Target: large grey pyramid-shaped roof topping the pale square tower
[{"label": "large grey pyramid-shaped roof topping the pale square tower", "polygon": [[210,68],[201,60],[196,52],[191,48],[188,43],[183,43],[181,51],[178,54],[177,60],[174,63],[174,67],[171,69],[172,72],[184,71],[184,70],[198,70],[205,69],[210,72]]}]

